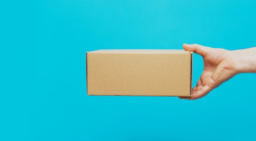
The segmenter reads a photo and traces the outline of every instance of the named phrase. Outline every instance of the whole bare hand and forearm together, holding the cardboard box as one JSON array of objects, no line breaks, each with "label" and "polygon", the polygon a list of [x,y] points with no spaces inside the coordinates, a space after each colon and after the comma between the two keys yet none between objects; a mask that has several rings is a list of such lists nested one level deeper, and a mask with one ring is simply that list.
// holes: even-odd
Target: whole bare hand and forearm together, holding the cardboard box
[{"label": "whole bare hand and forearm together, holding the cardboard box", "polygon": [[256,73],[256,47],[228,51],[198,44],[183,44],[186,51],[193,51],[204,59],[204,70],[191,97],[199,99],[238,73]]}]

